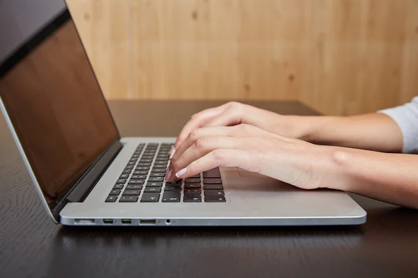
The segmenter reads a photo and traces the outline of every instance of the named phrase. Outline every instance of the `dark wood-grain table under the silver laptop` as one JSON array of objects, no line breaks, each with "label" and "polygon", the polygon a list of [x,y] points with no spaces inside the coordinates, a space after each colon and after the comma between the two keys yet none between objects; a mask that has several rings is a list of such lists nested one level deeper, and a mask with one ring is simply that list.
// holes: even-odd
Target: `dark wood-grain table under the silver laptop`
[{"label": "dark wood-grain table under the silver laptop", "polygon": [[[214,101],[110,101],[122,136],[176,136]],[[315,115],[295,102],[251,102]],[[0,277],[418,277],[418,212],[365,197],[360,227],[53,224],[0,119]]]}]

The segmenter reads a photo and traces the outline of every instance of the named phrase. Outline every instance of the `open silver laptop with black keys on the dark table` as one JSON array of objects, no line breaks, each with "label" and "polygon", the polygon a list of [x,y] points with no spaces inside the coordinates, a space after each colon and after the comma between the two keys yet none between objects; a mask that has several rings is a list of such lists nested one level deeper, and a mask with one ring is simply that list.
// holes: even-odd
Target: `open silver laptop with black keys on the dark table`
[{"label": "open silver laptop with black keys on the dark table", "polygon": [[65,3],[3,0],[0,11],[1,111],[54,222],[176,227],[366,221],[366,212],[344,192],[301,190],[236,167],[166,183],[175,138],[121,138]]}]

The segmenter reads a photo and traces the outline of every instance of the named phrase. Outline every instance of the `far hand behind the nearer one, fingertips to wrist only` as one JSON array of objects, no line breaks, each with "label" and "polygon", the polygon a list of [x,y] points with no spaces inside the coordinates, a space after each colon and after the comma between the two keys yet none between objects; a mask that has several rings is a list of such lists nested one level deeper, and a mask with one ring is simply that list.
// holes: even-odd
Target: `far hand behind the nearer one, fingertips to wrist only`
[{"label": "far hand behind the nearer one, fingertips to wrist only", "polygon": [[185,138],[189,136],[190,132],[202,127],[251,124],[252,126],[257,126],[260,129],[277,133],[281,136],[300,138],[300,131],[297,131],[300,125],[295,124],[293,121],[295,118],[297,116],[289,117],[279,115],[238,102],[229,102],[222,106],[209,108],[192,115],[189,122],[185,124],[174,144],[171,157]]}]

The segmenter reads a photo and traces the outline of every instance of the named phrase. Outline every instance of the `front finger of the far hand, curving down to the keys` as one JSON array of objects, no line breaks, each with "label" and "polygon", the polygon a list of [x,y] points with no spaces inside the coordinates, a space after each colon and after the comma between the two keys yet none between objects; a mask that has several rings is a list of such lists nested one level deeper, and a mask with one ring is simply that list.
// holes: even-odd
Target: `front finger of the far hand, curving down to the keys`
[{"label": "front finger of the far hand, curving down to the keys", "polygon": [[[222,106],[218,106],[215,108],[209,108],[206,110],[203,110],[195,115],[192,116],[192,118],[189,120],[189,122],[187,122],[187,124],[185,124],[185,126],[183,126],[183,129],[180,131],[176,142],[174,143],[174,152],[176,152],[176,149],[181,145],[181,143],[183,142],[183,140],[185,140],[185,138],[187,138],[187,136],[189,136],[189,133],[193,130],[193,129],[197,129],[201,126],[203,126],[204,124],[206,124],[207,122],[209,122],[210,120],[212,120],[212,118],[216,117],[217,115],[219,115],[220,113],[222,113],[222,111],[224,111],[224,109],[226,109],[228,104],[223,104]],[[171,154],[172,156],[172,154]]]}]

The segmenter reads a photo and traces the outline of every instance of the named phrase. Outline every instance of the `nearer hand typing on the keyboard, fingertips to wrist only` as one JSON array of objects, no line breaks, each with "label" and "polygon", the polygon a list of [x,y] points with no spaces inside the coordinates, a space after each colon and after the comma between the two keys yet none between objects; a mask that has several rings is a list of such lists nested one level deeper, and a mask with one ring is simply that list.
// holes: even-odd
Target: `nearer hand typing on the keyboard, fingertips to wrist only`
[{"label": "nearer hand typing on the keyboard, fingertips to wrist only", "polygon": [[249,124],[194,129],[171,159],[167,181],[214,167],[240,167],[304,189],[330,184],[330,147],[286,138]]}]

